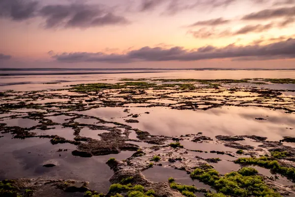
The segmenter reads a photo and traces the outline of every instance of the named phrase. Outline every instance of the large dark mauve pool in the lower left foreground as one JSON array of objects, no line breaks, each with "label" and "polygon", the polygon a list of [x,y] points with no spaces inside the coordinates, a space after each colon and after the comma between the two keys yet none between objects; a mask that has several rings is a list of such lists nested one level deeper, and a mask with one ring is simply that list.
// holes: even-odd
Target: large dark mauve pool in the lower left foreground
[{"label": "large dark mauve pool in the lower left foreground", "polygon": [[[108,180],[114,174],[105,164],[108,159],[114,157],[123,160],[134,153],[124,151],[116,155],[81,158],[71,154],[71,151],[76,149],[72,144],[52,145],[48,139],[20,140],[11,139],[9,135],[0,138],[0,148],[1,180],[20,177],[82,180],[89,181],[91,189],[103,193],[108,192],[111,185]],[[68,151],[57,152],[59,148]],[[42,166],[48,163],[57,165],[52,168]]]}]

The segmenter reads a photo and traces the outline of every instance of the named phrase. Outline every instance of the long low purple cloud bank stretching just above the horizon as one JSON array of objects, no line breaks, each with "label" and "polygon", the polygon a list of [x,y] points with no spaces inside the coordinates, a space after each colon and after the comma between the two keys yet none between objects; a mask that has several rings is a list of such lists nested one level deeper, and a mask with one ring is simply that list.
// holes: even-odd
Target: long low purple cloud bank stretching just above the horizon
[{"label": "long low purple cloud bank stretching just above the horizon", "polygon": [[182,47],[161,48],[143,47],[138,50],[129,51],[126,54],[104,54],[104,53],[63,53],[53,56],[59,62],[108,62],[108,63],[130,63],[138,61],[198,61],[208,59],[225,58],[247,58],[257,59],[293,59],[295,58],[295,39],[279,41],[267,45],[226,47],[205,46],[196,50],[188,50]]}]

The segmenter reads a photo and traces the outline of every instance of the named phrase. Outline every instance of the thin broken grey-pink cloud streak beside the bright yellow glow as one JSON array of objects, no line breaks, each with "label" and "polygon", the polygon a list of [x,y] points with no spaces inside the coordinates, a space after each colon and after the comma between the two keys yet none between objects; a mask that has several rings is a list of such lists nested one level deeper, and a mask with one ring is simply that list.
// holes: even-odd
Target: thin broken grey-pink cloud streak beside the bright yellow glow
[{"label": "thin broken grey-pink cloud streak beside the bright yellow glow", "polygon": [[266,25],[246,25],[235,32],[230,30],[217,31],[215,28],[201,28],[197,31],[188,31],[187,33],[192,34],[195,38],[220,38],[247,33],[261,33],[271,29],[273,26],[272,23]]}]

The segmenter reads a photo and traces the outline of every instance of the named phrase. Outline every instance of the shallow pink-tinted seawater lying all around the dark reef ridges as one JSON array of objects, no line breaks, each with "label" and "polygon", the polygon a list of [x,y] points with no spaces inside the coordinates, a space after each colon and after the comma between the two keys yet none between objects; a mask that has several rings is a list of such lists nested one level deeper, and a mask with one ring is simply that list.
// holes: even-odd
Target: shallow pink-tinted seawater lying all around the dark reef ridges
[{"label": "shallow pink-tinted seawater lying all around the dark reef ridges", "polygon": [[[258,76],[258,73],[261,74]],[[286,76],[290,77],[290,73],[295,73],[295,71],[285,72],[285,71],[165,71],[161,73],[154,72],[151,73],[132,73],[126,75],[126,73],[118,74],[91,74],[91,75],[71,75],[71,76],[62,76],[62,75],[44,75],[42,77],[38,75],[24,76],[23,78],[12,77],[0,77],[0,79],[5,79],[4,84],[0,86],[1,90],[14,89],[14,90],[41,90],[41,89],[56,89],[56,88],[68,88],[64,87],[67,85],[74,85],[78,83],[117,83],[119,81],[118,77],[123,78],[142,78],[142,77],[159,77],[159,78],[229,78],[234,77],[235,79],[241,78],[255,78],[267,76],[267,78],[285,78]],[[205,75],[204,75],[205,74]],[[210,74],[210,76],[208,75]],[[236,74],[236,75],[231,75]],[[127,77],[126,77],[127,76]],[[272,77],[271,77],[272,76]],[[295,75],[294,75],[295,76]],[[60,80],[64,77],[63,81]],[[101,79],[108,79],[107,81],[99,81]],[[15,83],[10,83],[11,80],[15,80]],[[30,80],[30,83],[21,84],[22,81]],[[47,81],[46,81],[47,80]],[[43,82],[59,81],[60,84],[42,84]],[[9,84],[10,83],[10,84]],[[160,81],[156,81],[157,84],[161,84]],[[168,83],[178,83],[178,82],[168,82]],[[182,82],[180,82],[182,83]],[[196,87],[207,86],[204,84],[195,84]],[[230,88],[241,88],[239,91],[231,91]],[[259,96],[258,93],[250,93],[249,88],[253,87],[265,87],[282,91],[283,95],[276,98],[269,98],[264,96]],[[288,91],[290,90],[290,91]],[[33,114],[34,119],[29,118],[22,119],[20,117],[31,115],[30,112],[44,112],[46,117],[52,120],[55,123],[65,123],[70,119],[75,117],[74,124],[87,124],[95,126],[107,126],[116,128],[118,136],[128,137],[131,140],[138,140],[137,134],[134,131],[139,129],[141,131],[148,131],[151,135],[165,135],[165,136],[177,136],[178,138],[183,138],[179,142],[184,146],[183,149],[172,149],[171,147],[161,147],[160,150],[151,151],[148,147],[153,146],[154,144],[148,144],[146,142],[134,142],[125,139],[125,143],[136,144],[142,149],[149,150],[150,154],[161,155],[163,161],[160,163],[165,165],[158,166],[155,165],[152,168],[149,168],[143,171],[144,175],[150,181],[167,181],[169,177],[173,176],[177,178],[177,182],[186,185],[195,184],[197,187],[204,187],[209,189],[209,186],[204,185],[198,181],[192,181],[189,178],[189,175],[185,171],[180,171],[174,169],[170,166],[181,167],[182,164],[185,164],[186,161],[189,162],[205,162],[209,158],[220,158],[222,161],[218,163],[209,163],[216,168],[221,174],[228,173],[232,170],[238,170],[239,165],[234,164],[232,161],[236,160],[236,157],[250,157],[249,155],[236,155],[236,150],[234,148],[224,146],[221,141],[216,141],[216,135],[260,135],[266,136],[267,140],[278,141],[283,139],[283,136],[294,136],[295,129],[295,113],[285,113],[286,110],[274,110],[266,107],[277,107],[282,106],[287,109],[295,109],[294,105],[294,92],[295,84],[265,84],[265,85],[256,85],[256,84],[223,84],[220,89],[216,90],[213,88],[206,87],[204,89],[196,89],[195,91],[182,91],[176,89],[168,90],[145,90],[144,93],[135,95],[132,94],[118,94],[120,90],[105,90],[105,95],[103,98],[97,98],[98,92],[93,92],[93,94],[85,95],[79,93],[72,93],[66,90],[62,91],[51,91],[51,92],[42,92],[40,97],[37,100],[34,100],[36,108],[43,107],[44,102],[67,102],[69,103],[58,103],[44,107],[43,109],[17,109],[10,110],[5,114],[0,114],[0,117],[6,117],[7,115],[15,115],[15,119],[3,118],[0,119],[0,123],[7,123],[8,126],[20,126],[20,127],[33,127],[39,125],[38,114]],[[243,92],[245,91],[245,92]],[[161,96],[161,94],[165,94]],[[171,94],[170,94],[171,93]],[[7,97],[6,100],[0,100],[1,103],[9,102],[11,99],[13,102],[23,101],[18,98],[17,95],[26,95],[25,93],[14,93],[13,97]],[[39,93],[34,93],[34,97]],[[44,95],[46,96],[44,96]],[[50,97],[51,94],[58,94],[54,97]],[[43,96],[42,96],[43,95]],[[73,98],[69,96],[75,96]],[[77,96],[77,97],[76,97]],[[79,97],[82,96],[82,97]],[[124,98],[121,98],[124,97]],[[130,97],[130,99],[129,99]],[[29,97],[27,97],[29,98]],[[45,98],[45,99],[43,99]],[[57,99],[47,99],[47,98],[57,98]],[[63,99],[60,99],[63,98]],[[128,99],[127,99],[128,98]],[[132,99],[131,99],[132,98]],[[188,99],[189,98],[189,99]],[[90,99],[90,101],[86,101]],[[91,99],[96,99],[91,102]],[[141,100],[133,100],[141,99]],[[26,99],[24,99],[26,100]],[[29,100],[33,100],[29,98]],[[108,104],[111,101],[112,104]],[[133,103],[134,101],[134,103]],[[189,101],[193,104],[193,107],[185,102]],[[245,102],[244,102],[245,101]],[[29,103],[30,101],[28,101]],[[77,103],[89,104],[85,105],[85,108],[75,108]],[[126,103],[131,102],[131,103]],[[137,103],[138,102],[138,103]],[[239,106],[229,106],[229,105],[239,105]],[[66,106],[68,106],[68,109]],[[90,109],[94,105],[94,108]],[[158,106],[157,106],[158,105]],[[247,106],[254,105],[254,106]],[[107,107],[105,107],[107,106]],[[116,107],[111,107],[116,106]],[[148,106],[148,107],[147,107]],[[182,107],[180,107],[182,106]],[[207,109],[210,107],[211,109]],[[262,107],[265,106],[265,107]],[[61,107],[61,108],[59,108]],[[65,109],[63,108],[65,107]],[[69,109],[75,108],[75,110],[70,111]],[[175,108],[175,109],[173,109]],[[49,113],[45,113],[46,110]],[[127,109],[127,111],[126,111]],[[202,110],[207,109],[207,110]],[[58,114],[59,111],[64,111],[63,115],[54,116]],[[13,112],[13,113],[11,113]],[[148,113],[146,113],[148,112]],[[60,113],[61,114],[61,113]],[[75,114],[86,115],[81,117]],[[138,115],[132,117],[132,115]],[[42,116],[40,114],[40,116]],[[87,118],[87,116],[94,116]],[[31,117],[32,118],[32,117]],[[262,118],[262,120],[258,120]],[[127,123],[126,121],[138,120],[139,123]],[[106,123],[109,122],[118,122],[124,124],[120,126],[119,124]],[[132,129],[128,129],[128,126],[131,126]],[[86,126],[86,125],[84,125]],[[101,137],[98,136],[100,133],[109,132],[106,130],[90,130],[90,126],[84,127],[79,125],[81,129],[80,135],[83,137],[90,137],[93,139],[101,140]],[[36,132],[37,134],[43,135],[59,135],[69,140],[74,140],[74,130],[72,128],[63,128],[59,126],[50,126],[55,127],[51,130],[31,130],[30,132]],[[75,126],[73,126],[75,127]],[[84,127],[84,128],[83,128]],[[119,132],[121,130],[121,132]],[[181,136],[185,134],[197,134],[202,132],[204,136],[211,137],[215,141],[207,141],[203,143],[196,143],[190,140],[193,139],[193,136]],[[2,135],[2,134],[1,134]],[[11,139],[11,135],[3,134],[4,137],[0,138],[0,179],[2,178],[19,178],[19,177],[40,177],[48,179],[76,179],[76,180],[85,180],[90,181],[90,188],[95,189],[98,192],[106,193],[108,187],[110,186],[109,178],[114,174],[114,171],[111,170],[105,163],[106,161],[114,157],[117,160],[123,160],[129,158],[134,152],[126,151],[121,152],[118,155],[107,155],[107,156],[96,156],[91,158],[81,158],[74,157],[71,154],[71,151],[75,150],[77,147],[71,144],[58,144],[52,145],[50,139],[39,139],[39,138],[26,138],[25,140],[20,139]],[[172,140],[167,140],[164,142],[165,145],[173,142]],[[82,142],[84,143],[84,142]],[[243,145],[251,145],[258,147],[262,143],[256,142],[252,139],[245,138],[243,141],[238,141],[238,143]],[[284,142],[284,145],[289,145],[295,147],[295,143]],[[57,152],[57,150],[68,149],[68,151]],[[188,149],[188,150],[186,150]],[[199,153],[189,150],[202,150],[207,151],[208,153]],[[210,151],[229,151],[232,152],[236,157],[231,157],[229,155],[218,155],[215,153],[210,153]],[[266,151],[266,149],[264,149]],[[167,155],[174,154],[177,158],[182,158],[183,163],[177,161],[176,163],[169,163]],[[142,156],[140,159],[147,160],[149,162],[152,158],[151,155],[147,152],[147,155]],[[259,151],[257,153],[263,153]],[[265,153],[263,153],[265,154]],[[174,157],[173,156],[173,157]],[[203,159],[199,159],[198,157]],[[170,157],[170,156],[169,156]],[[52,168],[45,168],[43,164],[56,164]],[[195,164],[195,163],[193,163]],[[192,164],[192,165],[193,165]],[[197,163],[196,163],[197,164]],[[132,168],[133,166],[131,166]],[[268,174],[266,169],[260,169],[259,171],[262,174]],[[280,179],[276,180],[276,183],[283,185],[291,185],[285,177],[279,176]],[[202,196],[202,194],[198,194]]]}]

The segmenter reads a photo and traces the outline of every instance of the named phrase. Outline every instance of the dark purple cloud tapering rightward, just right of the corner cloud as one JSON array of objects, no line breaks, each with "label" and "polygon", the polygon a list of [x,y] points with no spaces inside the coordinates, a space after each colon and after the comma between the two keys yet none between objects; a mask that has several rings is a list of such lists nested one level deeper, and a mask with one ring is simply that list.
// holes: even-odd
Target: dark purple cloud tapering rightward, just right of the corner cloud
[{"label": "dark purple cloud tapering rightward, just right of the corner cloud", "polygon": [[128,23],[126,18],[117,16],[102,6],[77,3],[44,6],[40,16],[46,19],[46,28],[88,28]]}]

